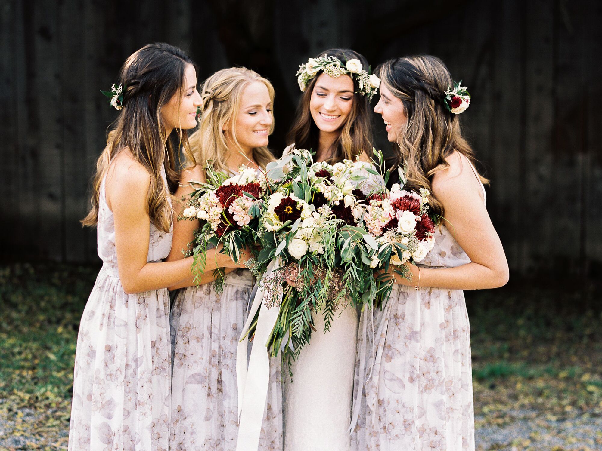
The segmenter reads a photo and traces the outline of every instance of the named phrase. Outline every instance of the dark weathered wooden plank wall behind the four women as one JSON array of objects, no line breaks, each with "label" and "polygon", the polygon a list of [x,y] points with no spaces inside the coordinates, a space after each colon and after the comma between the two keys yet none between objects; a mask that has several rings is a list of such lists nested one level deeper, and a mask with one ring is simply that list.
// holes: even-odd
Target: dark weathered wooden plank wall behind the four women
[{"label": "dark weathered wooden plank wall behind the four women", "polygon": [[441,57],[473,95],[465,130],[492,180],[488,209],[512,269],[597,277],[601,20],[596,0],[3,0],[0,255],[98,259],[95,231],[78,220],[116,115],[99,89],[143,44],[181,46],[199,81],[234,64],[270,78],[275,149],[294,114],[297,66],[349,46],[373,67]]}]

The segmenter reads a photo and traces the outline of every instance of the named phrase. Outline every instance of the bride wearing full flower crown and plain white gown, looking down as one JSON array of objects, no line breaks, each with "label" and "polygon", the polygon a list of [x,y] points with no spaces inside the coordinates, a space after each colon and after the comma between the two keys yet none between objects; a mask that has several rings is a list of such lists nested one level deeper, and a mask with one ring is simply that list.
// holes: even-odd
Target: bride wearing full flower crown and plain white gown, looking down
[{"label": "bride wearing full flower crown and plain white gown, looking down", "polygon": [[[370,161],[368,106],[379,81],[367,71],[365,58],[347,49],[325,51],[300,66],[297,81],[303,94],[289,135],[293,144],[285,153],[312,149],[315,161],[330,164],[358,157]],[[338,213],[346,213],[343,206]],[[314,327],[291,363],[292,380],[285,378],[285,450],[347,451],[358,312],[343,304],[330,331],[324,333],[321,314],[314,316]]]}]

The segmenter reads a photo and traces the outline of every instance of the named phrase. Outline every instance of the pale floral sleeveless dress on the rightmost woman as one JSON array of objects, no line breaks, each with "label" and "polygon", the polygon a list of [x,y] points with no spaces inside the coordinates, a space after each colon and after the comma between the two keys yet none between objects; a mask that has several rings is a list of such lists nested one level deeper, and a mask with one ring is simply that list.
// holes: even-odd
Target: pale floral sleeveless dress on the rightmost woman
[{"label": "pale floral sleeveless dress on the rightmost woman", "polygon": [[[434,237],[435,246],[418,266],[470,263],[444,225]],[[362,313],[359,330],[354,387],[359,417],[353,430],[357,449],[474,451],[464,292],[395,284],[383,310]]]}]

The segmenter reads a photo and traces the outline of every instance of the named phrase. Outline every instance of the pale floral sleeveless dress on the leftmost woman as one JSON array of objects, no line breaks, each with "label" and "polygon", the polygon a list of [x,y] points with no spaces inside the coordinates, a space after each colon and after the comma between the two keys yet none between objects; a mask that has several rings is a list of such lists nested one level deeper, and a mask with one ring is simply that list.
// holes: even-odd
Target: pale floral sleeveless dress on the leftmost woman
[{"label": "pale floral sleeveless dress on the leftmost woman", "polygon": [[[166,182],[164,170],[161,175]],[[147,262],[160,262],[171,247],[172,231],[162,232],[151,223]],[[102,268],[79,325],[69,450],[166,451],[169,292],[123,291],[105,179],[99,193],[98,256]]]}]

